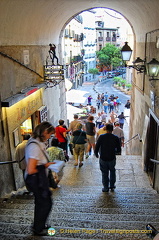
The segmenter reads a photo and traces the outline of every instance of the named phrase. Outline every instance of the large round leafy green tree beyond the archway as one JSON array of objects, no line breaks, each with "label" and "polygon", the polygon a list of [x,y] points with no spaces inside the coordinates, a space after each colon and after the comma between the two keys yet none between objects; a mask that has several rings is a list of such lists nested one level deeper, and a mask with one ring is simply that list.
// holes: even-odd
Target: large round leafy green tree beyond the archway
[{"label": "large round leafy green tree beyond the archway", "polygon": [[100,66],[116,68],[121,66],[122,58],[120,48],[113,44],[107,43],[100,51],[96,52]]}]

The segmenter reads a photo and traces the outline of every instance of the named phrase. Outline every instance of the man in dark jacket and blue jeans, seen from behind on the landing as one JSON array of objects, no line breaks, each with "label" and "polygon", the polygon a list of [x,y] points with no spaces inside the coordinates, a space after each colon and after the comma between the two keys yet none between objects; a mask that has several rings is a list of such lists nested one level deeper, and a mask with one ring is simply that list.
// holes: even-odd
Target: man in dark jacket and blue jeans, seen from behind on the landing
[{"label": "man in dark jacket and blue jeans, seen from behind on the landing", "polygon": [[115,189],[116,182],[116,153],[121,152],[119,138],[112,134],[113,125],[106,124],[106,134],[99,136],[95,146],[95,156],[99,157],[100,170],[102,172],[103,192]]}]

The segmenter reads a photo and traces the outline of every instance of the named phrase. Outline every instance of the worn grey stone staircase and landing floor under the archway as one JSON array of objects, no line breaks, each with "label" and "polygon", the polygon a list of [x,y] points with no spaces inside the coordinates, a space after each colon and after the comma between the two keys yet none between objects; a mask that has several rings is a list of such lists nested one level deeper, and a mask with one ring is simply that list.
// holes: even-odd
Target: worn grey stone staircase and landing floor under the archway
[{"label": "worn grey stone staircase and landing floor under the archway", "polygon": [[49,223],[55,235],[31,236],[33,196],[20,189],[0,199],[0,239],[112,239],[149,238],[145,226],[159,229],[159,195],[142,170],[140,156],[117,156],[114,192],[103,193],[98,159],[91,156],[81,168],[66,163],[60,188],[53,190]]}]

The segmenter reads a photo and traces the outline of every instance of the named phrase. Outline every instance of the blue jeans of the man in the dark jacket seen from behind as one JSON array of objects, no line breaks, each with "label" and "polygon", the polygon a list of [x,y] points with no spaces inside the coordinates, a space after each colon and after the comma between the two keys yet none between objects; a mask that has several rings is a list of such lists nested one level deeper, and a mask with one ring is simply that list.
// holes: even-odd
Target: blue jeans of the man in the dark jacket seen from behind
[{"label": "blue jeans of the man in the dark jacket seen from behind", "polygon": [[103,161],[99,160],[100,170],[102,172],[102,184],[104,189],[114,188],[114,184],[116,182],[116,159],[112,161]]}]

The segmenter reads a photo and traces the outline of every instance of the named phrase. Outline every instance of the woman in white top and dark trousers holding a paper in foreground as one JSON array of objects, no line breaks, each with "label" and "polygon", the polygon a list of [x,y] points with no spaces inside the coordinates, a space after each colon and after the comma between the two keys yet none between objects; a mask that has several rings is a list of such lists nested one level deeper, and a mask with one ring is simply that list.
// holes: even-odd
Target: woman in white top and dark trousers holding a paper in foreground
[{"label": "woman in white top and dark trousers holding a paper in foreground", "polygon": [[26,183],[35,197],[34,223],[32,231],[34,235],[48,235],[48,225],[46,220],[51,211],[52,199],[49,190],[47,177],[47,167],[52,162],[48,162],[45,142],[55,133],[55,129],[49,122],[42,122],[33,131],[32,138],[29,139],[25,159],[27,163],[25,171]]}]

